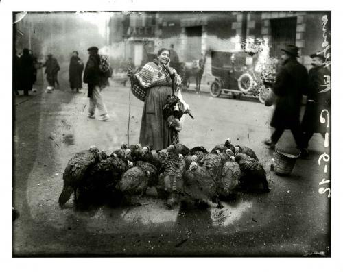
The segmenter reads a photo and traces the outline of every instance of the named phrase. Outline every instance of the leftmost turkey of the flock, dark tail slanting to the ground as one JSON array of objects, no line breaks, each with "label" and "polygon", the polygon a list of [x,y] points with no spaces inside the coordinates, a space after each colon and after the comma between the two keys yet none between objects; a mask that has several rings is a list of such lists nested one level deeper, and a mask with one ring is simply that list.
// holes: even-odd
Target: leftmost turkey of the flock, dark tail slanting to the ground
[{"label": "leftmost turkey of the flock, dark tail slanting to the ground", "polygon": [[74,192],[76,199],[76,189],[84,181],[86,173],[99,162],[99,149],[91,146],[88,150],[76,153],[69,160],[63,173],[63,190],[58,199],[60,206],[63,206]]}]

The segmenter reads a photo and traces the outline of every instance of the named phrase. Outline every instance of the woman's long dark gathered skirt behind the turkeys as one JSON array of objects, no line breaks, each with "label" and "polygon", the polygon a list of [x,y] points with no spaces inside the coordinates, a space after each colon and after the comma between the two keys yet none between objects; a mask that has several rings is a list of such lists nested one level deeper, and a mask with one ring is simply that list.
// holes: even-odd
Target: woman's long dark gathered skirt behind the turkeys
[{"label": "woman's long dark gathered skirt behind the turkeys", "polygon": [[178,132],[168,126],[162,114],[167,96],[171,94],[171,86],[156,86],[147,91],[139,136],[141,145],[160,150],[178,143]]}]

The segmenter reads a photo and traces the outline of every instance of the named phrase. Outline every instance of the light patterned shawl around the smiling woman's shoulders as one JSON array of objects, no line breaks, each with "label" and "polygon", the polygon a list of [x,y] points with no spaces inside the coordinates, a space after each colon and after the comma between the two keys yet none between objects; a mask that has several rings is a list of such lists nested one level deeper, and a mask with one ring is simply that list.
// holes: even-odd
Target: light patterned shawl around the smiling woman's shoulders
[{"label": "light patterned shawl around the smiling woman's shoulders", "polygon": [[169,75],[163,65],[148,62],[131,79],[132,93],[141,101],[145,100],[147,89],[153,86],[171,86],[175,94],[178,93],[181,86],[181,77],[176,73],[175,69],[173,70],[174,74]]}]

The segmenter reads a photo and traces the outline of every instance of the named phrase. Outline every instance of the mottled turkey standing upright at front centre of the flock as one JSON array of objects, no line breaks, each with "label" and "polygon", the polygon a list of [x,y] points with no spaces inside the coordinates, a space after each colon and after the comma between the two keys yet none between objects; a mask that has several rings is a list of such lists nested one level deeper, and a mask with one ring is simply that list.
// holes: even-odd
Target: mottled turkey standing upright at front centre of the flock
[{"label": "mottled turkey standing upright at front centre of the flock", "polygon": [[182,154],[170,154],[165,158],[161,169],[160,184],[163,180],[165,190],[169,194],[167,206],[172,208],[178,201],[178,195],[182,192],[183,174],[185,173],[185,158]]}]

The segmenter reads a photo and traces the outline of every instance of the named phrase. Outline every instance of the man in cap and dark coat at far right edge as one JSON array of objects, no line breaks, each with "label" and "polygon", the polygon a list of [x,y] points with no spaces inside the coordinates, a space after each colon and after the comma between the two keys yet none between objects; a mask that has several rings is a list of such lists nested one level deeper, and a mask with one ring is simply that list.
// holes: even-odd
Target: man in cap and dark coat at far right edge
[{"label": "man in cap and dark coat at far right edge", "polygon": [[304,132],[305,147],[308,147],[309,140],[314,133],[322,134],[325,137],[327,126],[320,123],[320,114],[322,110],[329,110],[331,105],[331,88],[322,92],[327,83],[325,78],[331,76],[331,73],[324,62],[324,55],[314,53],[311,57],[311,68],[309,70],[309,83],[307,89],[307,103],[303,117],[302,128]]}]

